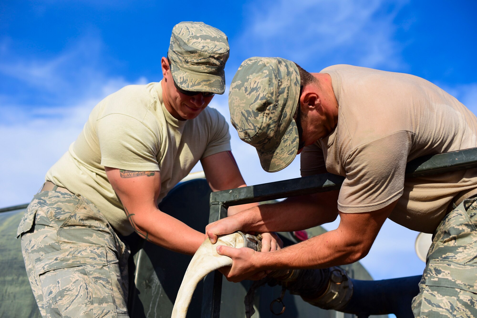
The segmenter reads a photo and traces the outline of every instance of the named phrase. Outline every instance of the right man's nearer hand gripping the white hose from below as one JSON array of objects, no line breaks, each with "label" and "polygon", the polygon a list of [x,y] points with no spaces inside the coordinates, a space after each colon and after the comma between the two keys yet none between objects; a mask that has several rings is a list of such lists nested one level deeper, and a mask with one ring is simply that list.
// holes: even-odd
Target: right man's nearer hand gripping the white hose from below
[{"label": "right man's nearer hand gripping the white hose from below", "polygon": [[257,266],[257,254],[251,248],[231,248],[220,245],[217,247],[217,253],[232,258],[232,266],[220,269],[228,281],[237,283],[244,279],[259,280],[265,278],[267,273],[260,270]]}]

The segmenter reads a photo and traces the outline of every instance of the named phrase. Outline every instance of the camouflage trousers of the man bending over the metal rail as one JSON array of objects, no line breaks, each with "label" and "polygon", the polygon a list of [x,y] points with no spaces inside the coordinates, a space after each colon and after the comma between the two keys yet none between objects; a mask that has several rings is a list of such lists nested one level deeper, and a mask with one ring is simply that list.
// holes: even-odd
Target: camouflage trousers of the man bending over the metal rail
[{"label": "camouflage trousers of the man bending over the metal rail", "polygon": [[477,198],[442,220],[413,299],[415,317],[477,317]]}]

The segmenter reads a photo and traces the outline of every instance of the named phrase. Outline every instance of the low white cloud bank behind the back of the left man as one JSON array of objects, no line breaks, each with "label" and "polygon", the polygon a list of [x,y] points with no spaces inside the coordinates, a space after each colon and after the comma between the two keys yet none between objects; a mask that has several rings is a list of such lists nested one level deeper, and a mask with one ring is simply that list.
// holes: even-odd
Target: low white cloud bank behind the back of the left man
[{"label": "low white cloud bank behind the back of the left man", "polygon": [[[144,82],[139,79],[135,84]],[[121,78],[108,80],[92,96],[62,107],[0,108],[0,207],[27,203],[44,182],[46,171],[76,139],[91,109],[106,95],[125,85]]]}]

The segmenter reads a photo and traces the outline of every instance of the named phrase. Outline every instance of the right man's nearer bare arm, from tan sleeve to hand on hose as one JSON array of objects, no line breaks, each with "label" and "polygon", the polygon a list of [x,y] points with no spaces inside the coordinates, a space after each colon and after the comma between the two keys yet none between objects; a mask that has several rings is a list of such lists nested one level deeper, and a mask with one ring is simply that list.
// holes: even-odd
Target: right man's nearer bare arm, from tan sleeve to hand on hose
[{"label": "right man's nearer bare arm, from tan sleeve to hand on hose", "polygon": [[341,213],[338,229],[270,253],[250,248],[218,246],[220,255],[232,258],[227,279],[238,282],[262,270],[283,268],[327,268],[350,264],[363,258],[373,245],[384,220],[396,201],[373,212]]}]

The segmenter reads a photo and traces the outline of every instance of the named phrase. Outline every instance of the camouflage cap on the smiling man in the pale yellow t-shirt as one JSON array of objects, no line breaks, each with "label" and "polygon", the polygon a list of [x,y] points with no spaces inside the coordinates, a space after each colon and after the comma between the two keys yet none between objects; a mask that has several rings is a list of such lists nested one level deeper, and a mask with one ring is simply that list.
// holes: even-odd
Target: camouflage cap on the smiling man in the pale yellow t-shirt
[{"label": "camouflage cap on the smiling man in the pale yellow t-shirt", "polygon": [[228,52],[224,32],[204,22],[180,22],[167,51],[172,77],[181,89],[223,94]]}]

